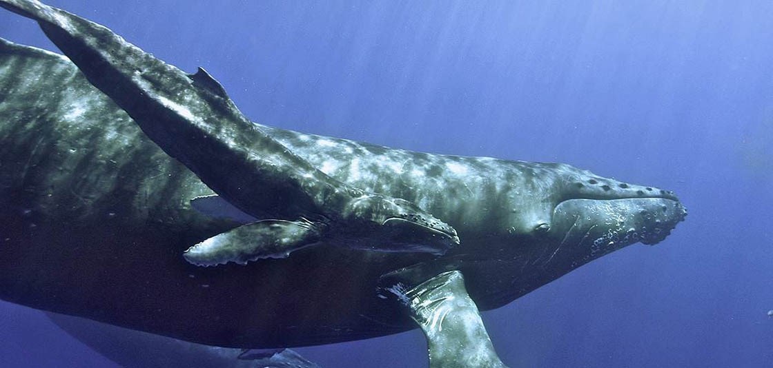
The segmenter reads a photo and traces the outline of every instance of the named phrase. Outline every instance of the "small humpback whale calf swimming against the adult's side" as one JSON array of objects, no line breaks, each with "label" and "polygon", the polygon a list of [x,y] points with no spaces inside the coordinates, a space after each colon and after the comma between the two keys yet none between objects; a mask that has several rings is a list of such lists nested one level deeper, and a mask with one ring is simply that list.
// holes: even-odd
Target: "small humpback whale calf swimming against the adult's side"
[{"label": "small humpback whale calf swimming against the adult's side", "polygon": [[247,120],[204,69],[182,73],[110,29],[40,2],[0,5],[37,20],[92,85],[220,197],[267,217],[196,245],[189,261],[284,258],[319,242],[434,254],[458,244],[455,229],[410,201],[352,187],[282,146]]}]

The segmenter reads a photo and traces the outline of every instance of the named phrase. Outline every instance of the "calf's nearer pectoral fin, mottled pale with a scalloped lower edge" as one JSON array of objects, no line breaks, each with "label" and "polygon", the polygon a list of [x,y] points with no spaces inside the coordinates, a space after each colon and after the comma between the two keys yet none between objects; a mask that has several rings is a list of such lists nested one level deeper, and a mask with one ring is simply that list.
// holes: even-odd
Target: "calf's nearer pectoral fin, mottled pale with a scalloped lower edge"
[{"label": "calf's nearer pectoral fin, mottled pale with a scalloped lower edge", "polygon": [[286,258],[315,244],[319,226],[308,221],[264,220],[233,228],[189,248],[183,256],[193,265],[240,265],[261,258]]}]

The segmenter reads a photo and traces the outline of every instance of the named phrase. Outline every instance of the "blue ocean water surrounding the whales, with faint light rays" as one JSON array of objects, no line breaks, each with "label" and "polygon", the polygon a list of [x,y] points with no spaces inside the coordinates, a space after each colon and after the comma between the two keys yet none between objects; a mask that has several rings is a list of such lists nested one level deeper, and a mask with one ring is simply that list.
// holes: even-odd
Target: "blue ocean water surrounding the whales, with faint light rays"
[{"label": "blue ocean water surrounding the whales, with faint light rays", "polygon": [[[773,366],[771,2],[48,3],[205,67],[260,123],[676,191],[666,241],[484,313],[510,366]],[[9,12],[0,37],[55,49]],[[298,352],[426,365],[418,331]],[[3,304],[0,366],[114,363]]]}]

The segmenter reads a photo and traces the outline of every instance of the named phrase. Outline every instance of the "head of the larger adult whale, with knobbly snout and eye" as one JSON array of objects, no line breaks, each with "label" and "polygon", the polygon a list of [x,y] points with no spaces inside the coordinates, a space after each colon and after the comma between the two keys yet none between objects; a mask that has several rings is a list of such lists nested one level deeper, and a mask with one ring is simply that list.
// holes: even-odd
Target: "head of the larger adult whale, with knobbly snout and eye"
[{"label": "head of the larger adult whale, with knobbly snout and eye", "polygon": [[533,165],[535,175],[526,185],[531,190],[516,198],[519,211],[507,225],[515,235],[543,241],[553,257],[559,252],[581,255],[573,258],[577,265],[637,242],[655,245],[687,214],[672,191],[568,164]]}]

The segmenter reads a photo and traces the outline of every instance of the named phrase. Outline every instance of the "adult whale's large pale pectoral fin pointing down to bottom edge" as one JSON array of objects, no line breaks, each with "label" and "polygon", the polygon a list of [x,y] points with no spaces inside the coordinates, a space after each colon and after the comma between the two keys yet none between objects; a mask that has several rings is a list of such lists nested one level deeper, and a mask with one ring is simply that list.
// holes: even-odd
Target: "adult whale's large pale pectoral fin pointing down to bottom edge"
[{"label": "adult whale's large pale pectoral fin pointing down to bottom edge", "polygon": [[410,308],[411,318],[424,331],[430,368],[506,368],[483,326],[478,306],[465,289],[461,272],[441,273],[407,291],[397,284],[390,291]]}]

